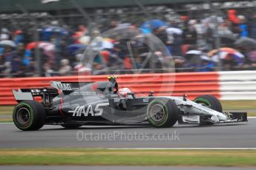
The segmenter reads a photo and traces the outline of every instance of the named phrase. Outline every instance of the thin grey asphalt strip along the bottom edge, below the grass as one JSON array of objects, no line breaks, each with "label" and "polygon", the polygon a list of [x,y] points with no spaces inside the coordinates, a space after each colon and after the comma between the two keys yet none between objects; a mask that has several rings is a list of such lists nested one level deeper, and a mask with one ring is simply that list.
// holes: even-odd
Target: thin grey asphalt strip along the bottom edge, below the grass
[{"label": "thin grey asphalt strip along the bottom edge, below the grass", "polygon": [[254,167],[200,167],[200,166],[0,166],[4,170],[254,170]]}]

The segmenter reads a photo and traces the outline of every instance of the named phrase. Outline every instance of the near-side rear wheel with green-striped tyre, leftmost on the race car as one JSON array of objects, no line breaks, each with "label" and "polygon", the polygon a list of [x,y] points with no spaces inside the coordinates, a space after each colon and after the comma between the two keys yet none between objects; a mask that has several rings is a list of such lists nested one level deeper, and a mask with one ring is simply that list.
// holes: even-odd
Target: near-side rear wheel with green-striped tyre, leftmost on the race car
[{"label": "near-side rear wheel with green-striped tyre, leftmost on the race car", "polygon": [[13,109],[13,122],[24,131],[41,129],[45,124],[44,106],[37,101],[22,101]]}]

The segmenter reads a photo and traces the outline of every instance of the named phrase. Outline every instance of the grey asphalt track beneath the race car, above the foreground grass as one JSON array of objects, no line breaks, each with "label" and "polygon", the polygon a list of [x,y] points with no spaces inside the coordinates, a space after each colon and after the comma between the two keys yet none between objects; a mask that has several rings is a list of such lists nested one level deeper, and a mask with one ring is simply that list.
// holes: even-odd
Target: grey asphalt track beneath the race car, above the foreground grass
[{"label": "grey asphalt track beneath the race car, above the foreground grass", "polygon": [[82,126],[71,130],[44,126],[36,132],[22,132],[13,123],[1,123],[0,135],[0,148],[256,148],[256,118],[236,125],[175,125],[165,129]]}]

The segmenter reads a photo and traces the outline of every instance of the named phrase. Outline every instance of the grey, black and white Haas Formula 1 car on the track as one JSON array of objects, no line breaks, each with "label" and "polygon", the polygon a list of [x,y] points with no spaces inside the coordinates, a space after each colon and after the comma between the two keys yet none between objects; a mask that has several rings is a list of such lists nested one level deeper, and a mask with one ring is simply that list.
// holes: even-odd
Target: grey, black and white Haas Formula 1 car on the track
[{"label": "grey, black and white Haas Formula 1 car on the track", "polygon": [[[190,101],[183,97],[137,97],[128,88],[118,88],[116,77],[93,83],[51,82],[54,88],[18,89],[13,122],[24,131],[45,124],[75,129],[83,125],[148,125],[171,127],[175,123],[237,123],[247,121],[245,112],[224,113],[220,101],[202,95]],[[35,101],[36,96],[42,102]]]}]

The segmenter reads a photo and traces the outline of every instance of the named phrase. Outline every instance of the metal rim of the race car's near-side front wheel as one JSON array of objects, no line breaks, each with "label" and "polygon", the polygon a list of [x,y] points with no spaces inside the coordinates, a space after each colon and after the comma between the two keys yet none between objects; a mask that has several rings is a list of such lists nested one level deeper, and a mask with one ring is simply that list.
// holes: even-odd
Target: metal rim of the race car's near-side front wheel
[{"label": "metal rim of the race car's near-side front wheel", "polygon": [[156,104],[151,107],[151,118],[156,121],[160,122],[163,119],[165,119],[166,114],[165,114],[165,109],[163,108],[162,105]]}]

